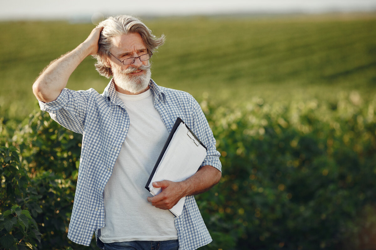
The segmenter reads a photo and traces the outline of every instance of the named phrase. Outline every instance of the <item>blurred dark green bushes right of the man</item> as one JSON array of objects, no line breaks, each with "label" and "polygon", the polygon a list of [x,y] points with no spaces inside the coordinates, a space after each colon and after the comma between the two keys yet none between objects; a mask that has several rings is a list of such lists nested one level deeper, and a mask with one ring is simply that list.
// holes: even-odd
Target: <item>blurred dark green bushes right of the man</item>
[{"label": "blurred dark green bushes right of the man", "polygon": [[367,241],[359,218],[375,205],[375,100],[354,92],[337,105],[202,106],[223,156],[220,184],[198,198],[215,235],[207,249],[359,249]]}]

